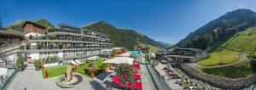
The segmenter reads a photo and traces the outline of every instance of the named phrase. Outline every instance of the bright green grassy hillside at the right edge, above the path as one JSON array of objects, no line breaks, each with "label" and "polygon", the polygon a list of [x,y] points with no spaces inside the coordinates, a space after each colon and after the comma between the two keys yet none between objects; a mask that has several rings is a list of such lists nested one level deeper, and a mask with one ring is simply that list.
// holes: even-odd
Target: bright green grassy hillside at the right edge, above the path
[{"label": "bright green grassy hillside at the right edge, above the path", "polygon": [[246,31],[236,33],[223,44],[224,48],[229,48],[238,52],[256,52],[256,27],[250,27]]}]

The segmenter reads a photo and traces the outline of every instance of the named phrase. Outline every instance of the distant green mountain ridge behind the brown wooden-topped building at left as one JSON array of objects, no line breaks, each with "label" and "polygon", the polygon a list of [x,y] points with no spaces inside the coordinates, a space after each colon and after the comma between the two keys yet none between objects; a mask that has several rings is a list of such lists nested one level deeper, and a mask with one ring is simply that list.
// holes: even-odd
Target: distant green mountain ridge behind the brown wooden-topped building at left
[{"label": "distant green mountain ridge behind the brown wooden-topped building at left", "polygon": [[[45,27],[49,28],[49,29],[53,29],[55,28],[55,25],[52,25],[51,23],[49,23],[49,21],[44,20],[44,19],[40,19],[40,20],[29,20],[32,22],[35,22],[39,25],[44,25]],[[14,24],[9,25],[7,28],[8,29],[13,29],[15,31],[22,31],[22,26],[24,25],[25,20],[17,20]]]}]

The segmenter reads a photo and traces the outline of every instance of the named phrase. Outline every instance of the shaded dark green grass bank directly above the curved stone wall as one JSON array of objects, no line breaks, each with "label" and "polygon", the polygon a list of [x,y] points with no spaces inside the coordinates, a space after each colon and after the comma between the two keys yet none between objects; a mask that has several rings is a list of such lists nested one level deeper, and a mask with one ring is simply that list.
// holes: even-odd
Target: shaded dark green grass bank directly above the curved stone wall
[{"label": "shaded dark green grass bank directly above the curved stone wall", "polygon": [[214,76],[241,78],[251,76],[256,71],[256,67],[254,62],[247,61],[240,65],[231,65],[218,68],[203,68],[201,71]]}]

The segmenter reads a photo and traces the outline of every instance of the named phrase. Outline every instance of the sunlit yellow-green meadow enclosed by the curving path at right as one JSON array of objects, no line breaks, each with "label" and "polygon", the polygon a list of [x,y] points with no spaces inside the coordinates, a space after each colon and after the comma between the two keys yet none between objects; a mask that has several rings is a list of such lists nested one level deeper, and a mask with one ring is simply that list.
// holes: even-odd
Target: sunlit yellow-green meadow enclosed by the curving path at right
[{"label": "sunlit yellow-green meadow enclosed by the curving path at right", "polygon": [[[239,60],[237,52],[224,49],[220,51],[220,53],[221,53],[221,61],[224,65],[230,64]],[[202,65],[202,66],[215,66],[219,64],[220,62],[219,60],[220,60],[219,53],[217,51],[214,51],[211,53],[210,58],[203,59],[199,62],[196,62],[196,64]]]}]

